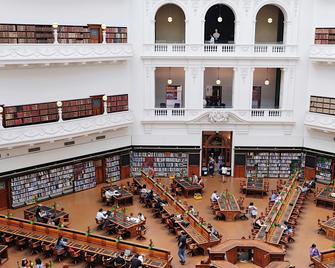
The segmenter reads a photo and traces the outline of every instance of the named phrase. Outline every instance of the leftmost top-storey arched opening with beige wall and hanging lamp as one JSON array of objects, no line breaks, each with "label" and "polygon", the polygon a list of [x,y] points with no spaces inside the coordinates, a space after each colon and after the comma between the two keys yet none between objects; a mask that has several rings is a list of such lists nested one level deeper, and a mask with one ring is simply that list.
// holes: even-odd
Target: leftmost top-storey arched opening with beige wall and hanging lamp
[{"label": "leftmost top-storey arched opening with beige wall and hanging lamp", "polygon": [[185,43],[185,14],[179,6],[166,4],[158,9],[155,43]]}]

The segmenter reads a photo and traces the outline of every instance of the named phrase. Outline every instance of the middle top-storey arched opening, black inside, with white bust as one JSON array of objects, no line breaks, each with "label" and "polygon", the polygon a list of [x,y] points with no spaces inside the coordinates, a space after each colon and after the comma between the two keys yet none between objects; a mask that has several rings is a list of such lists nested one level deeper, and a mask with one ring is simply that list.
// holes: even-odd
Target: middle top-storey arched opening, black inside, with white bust
[{"label": "middle top-storey arched opening, black inside, with white bust", "polygon": [[223,4],[210,7],[205,16],[205,43],[234,43],[234,40],[234,12]]}]

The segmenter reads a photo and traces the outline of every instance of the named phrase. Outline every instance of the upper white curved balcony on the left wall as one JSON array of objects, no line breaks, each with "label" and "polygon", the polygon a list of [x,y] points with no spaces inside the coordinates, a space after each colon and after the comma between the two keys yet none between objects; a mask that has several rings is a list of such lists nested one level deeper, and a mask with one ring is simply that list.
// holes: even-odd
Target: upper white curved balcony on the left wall
[{"label": "upper white curved balcony on the left wall", "polygon": [[0,44],[0,66],[124,61],[130,44]]}]

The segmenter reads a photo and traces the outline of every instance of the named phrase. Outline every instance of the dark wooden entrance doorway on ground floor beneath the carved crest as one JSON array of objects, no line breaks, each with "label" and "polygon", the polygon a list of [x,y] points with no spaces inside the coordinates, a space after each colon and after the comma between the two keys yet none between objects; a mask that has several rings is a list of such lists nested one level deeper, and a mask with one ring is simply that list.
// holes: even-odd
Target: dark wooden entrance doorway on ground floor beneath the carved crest
[{"label": "dark wooden entrance doorway on ground floor beneath the carved crest", "polygon": [[217,168],[222,165],[231,166],[232,132],[203,131],[202,132],[202,166],[207,167],[212,156]]}]

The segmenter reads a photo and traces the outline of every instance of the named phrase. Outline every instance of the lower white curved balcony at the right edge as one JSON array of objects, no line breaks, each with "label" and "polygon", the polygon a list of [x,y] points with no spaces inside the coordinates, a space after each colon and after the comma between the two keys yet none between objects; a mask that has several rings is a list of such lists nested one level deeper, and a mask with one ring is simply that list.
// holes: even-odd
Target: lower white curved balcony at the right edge
[{"label": "lower white curved balcony at the right edge", "polygon": [[305,126],[324,133],[335,133],[335,116],[307,112]]}]

